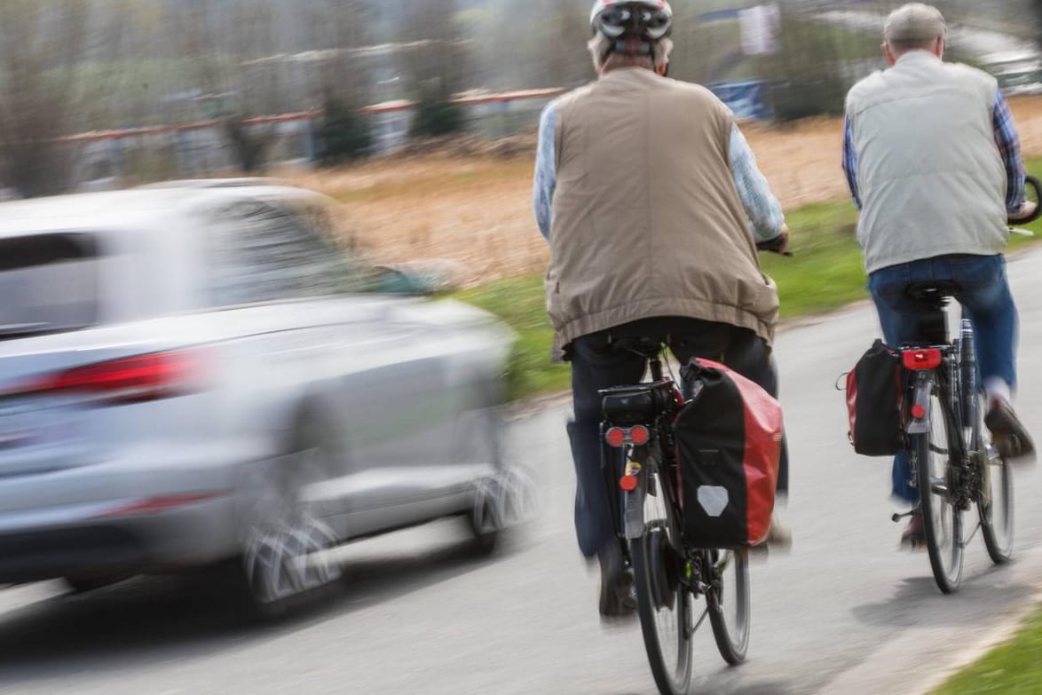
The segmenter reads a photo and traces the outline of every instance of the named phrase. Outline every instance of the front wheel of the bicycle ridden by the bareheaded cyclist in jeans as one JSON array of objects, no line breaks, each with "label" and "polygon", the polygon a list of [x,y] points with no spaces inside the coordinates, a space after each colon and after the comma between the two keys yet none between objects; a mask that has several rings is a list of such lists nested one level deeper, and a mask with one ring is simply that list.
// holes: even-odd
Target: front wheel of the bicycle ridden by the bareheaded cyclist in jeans
[{"label": "front wheel of the bicycle ridden by the bareheaded cyclist in jeans", "polygon": [[1006,458],[991,446],[991,433],[984,425],[985,403],[977,403],[979,414],[979,449],[985,452],[981,471],[981,491],[977,514],[981,531],[988,555],[996,565],[1004,565],[1013,557],[1013,471]]}]

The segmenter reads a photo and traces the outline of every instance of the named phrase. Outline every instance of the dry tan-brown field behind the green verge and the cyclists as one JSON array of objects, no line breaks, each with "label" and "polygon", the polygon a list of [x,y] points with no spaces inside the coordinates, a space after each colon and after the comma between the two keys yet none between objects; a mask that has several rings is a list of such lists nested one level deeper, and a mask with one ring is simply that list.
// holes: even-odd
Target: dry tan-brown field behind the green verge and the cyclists
[{"label": "dry tan-brown field behind the green verge and the cyclists", "polygon": [[[1014,99],[1012,106],[1025,154],[1042,156],[1042,97]],[[787,209],[847,195],[841,120],[743,130]],[[341,201],[341,228],[374,260],[449,258],[464,269],[457,281],[472,286],[545,270],[531,173],[530,152],[505,159],[449,152],[286,176]]]}]

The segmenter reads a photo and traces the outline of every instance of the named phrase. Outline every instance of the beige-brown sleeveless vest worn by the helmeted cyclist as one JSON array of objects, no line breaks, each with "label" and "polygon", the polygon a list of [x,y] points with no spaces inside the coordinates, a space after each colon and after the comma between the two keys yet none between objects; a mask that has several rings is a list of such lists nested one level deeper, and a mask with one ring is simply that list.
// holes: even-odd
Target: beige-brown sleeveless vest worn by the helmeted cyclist
[{"label": "beige-brown sleeveless vest worn by the helmeted cyclist", "polygon": [[662,316],[773,340],[777,292],[735,189],[731,125],[708,90],[641,68],[559,101],[546,278],[557,348]]}]

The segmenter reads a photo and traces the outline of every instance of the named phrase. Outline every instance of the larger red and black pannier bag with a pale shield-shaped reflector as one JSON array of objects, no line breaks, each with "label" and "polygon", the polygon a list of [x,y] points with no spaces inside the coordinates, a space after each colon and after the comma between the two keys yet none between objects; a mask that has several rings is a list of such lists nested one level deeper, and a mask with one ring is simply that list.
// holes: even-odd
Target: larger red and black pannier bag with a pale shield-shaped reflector
[{"label": "larger red and black pannier bag with a pale shield-shaped reflector", "polygon": [[782,405],[709,359],[681,370],[688,399],[673,423],[684,542],[748,548],[767,538],[782,458]]}]

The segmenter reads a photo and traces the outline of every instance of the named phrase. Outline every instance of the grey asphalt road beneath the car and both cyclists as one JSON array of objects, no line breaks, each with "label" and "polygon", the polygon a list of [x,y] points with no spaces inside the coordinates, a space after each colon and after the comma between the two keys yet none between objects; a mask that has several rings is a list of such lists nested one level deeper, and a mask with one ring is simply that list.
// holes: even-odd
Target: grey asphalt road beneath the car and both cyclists
[{"label": "grey asphalt road beneath the car and both cyclists", "polygon": [[[1042,438],[1042,254],[1010,266],[1021,309],[1022,417]],[[941,596],[924,553],[899,552],[889,464],[854,455],[834,389],[877,332],[867,305],[793,326],[777,354],[793,454],[791,554],[753,567],[749,662],[726,668],[706,628],[692,693],[913,693],[1037,594],[1037,469],[1018,471],[1018,561],[978,540],[963,591]],[[571,526],[566,407],[521,419],[512,451],[544,510],[511,550],[474,556],[457,522],[348,546],[343,591],[276,625],[244,622],[197,578],[147,578],[82,596],[0,592],[0,694],[654,692],[636,623],[604,630],[597,578]]]}]

